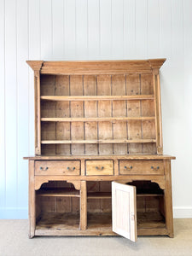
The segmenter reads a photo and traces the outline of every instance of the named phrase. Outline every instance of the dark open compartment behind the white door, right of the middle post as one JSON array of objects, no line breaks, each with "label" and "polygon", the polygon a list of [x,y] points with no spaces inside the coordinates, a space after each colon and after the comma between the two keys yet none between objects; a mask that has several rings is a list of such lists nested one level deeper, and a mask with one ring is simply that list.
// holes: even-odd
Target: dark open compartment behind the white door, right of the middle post
[{"label": "dark open compartment behind the white door, right of the middle post", "polygon": [[[159,185],[150,181],[127,184],[137,188],[137,230],[166,228],[164,191]],[[112,230],[111,182],[87,182],[87,227]]]}]

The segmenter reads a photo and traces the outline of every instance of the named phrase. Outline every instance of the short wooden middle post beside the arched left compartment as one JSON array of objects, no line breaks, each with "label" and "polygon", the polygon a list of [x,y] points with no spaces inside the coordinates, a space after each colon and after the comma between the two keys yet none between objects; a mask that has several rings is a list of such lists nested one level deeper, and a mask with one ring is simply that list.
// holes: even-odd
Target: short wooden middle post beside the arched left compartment
[{"label": "short wooden middle post beside the arched left compartment", "polygon": [[87,187],[86,182],[81,181],[80,189],[80,230],[87,228]]}]

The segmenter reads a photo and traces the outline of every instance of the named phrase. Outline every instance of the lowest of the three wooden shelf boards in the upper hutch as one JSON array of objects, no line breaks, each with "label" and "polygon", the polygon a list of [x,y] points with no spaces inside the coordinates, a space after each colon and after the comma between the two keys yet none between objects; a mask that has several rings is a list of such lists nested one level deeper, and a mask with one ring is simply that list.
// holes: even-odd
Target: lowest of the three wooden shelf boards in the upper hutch
[{"label": "lowest of the three wooden shelf boards in the upper hutch", "polygon": [[43,140],[42,144],[111,144],[111,143],[156,143],[155,139],[133,139],[133,140]]}]

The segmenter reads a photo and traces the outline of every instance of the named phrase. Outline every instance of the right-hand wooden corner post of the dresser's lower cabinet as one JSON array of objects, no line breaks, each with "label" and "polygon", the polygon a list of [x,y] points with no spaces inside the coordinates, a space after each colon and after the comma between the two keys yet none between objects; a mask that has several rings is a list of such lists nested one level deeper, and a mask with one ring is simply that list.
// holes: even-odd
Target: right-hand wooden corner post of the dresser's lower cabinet
[{"label": "right-hand wooden corner post of the dresser's lower cabinet", "polygon": [[168,236],[173,237],[173,216],[172,216],[172,172],[171,161],[165,160],[166,189],[165,189],[165,210],[166,228]]}]

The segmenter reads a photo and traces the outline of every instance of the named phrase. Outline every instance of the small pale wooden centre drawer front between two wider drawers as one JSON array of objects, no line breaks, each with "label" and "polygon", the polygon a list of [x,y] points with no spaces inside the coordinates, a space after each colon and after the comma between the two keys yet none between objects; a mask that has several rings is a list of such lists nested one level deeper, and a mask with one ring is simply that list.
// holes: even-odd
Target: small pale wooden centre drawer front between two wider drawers
[{"label": "small pale wooden centre drawer front between two wider drawers", "polygon": [[113,160],[87,160],[86,175],[113,175]]}]

